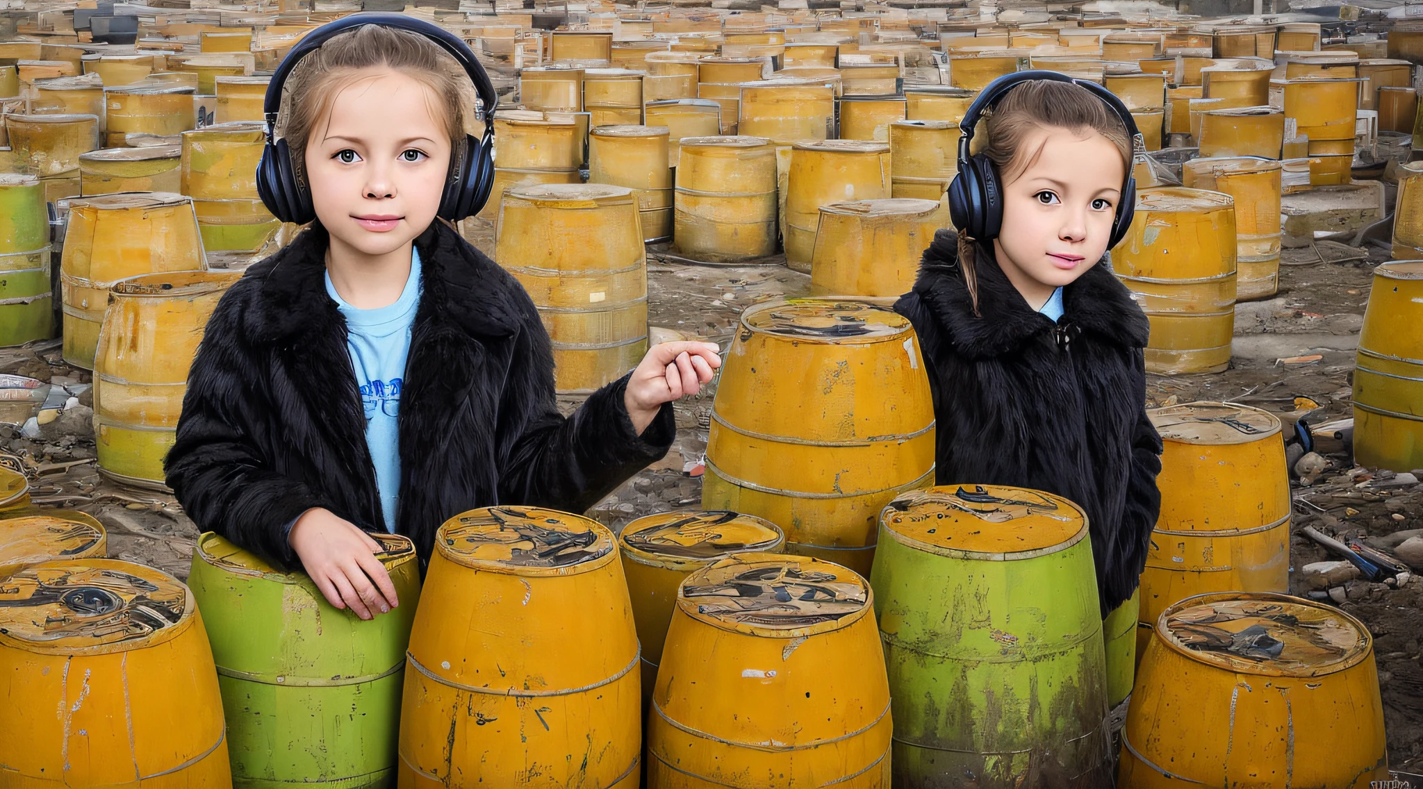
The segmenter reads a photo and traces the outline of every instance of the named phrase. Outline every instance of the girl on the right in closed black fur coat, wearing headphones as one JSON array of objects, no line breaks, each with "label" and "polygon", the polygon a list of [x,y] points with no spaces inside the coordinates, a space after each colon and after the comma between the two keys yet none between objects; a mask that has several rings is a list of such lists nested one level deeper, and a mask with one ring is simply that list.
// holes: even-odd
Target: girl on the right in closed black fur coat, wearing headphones
[{"label": "girl on the right in closed black fur coat, wearing headphones", "polygon": [[1147,318],[1107,257],[1131,223],[1136,124],[1100,85],[1026,71],[988,85],[962,131],[959,233],[938,233],[895,307],[924,348],[938,483],[1081,506],[1106,617],[1136,593],[1161,502]]}]

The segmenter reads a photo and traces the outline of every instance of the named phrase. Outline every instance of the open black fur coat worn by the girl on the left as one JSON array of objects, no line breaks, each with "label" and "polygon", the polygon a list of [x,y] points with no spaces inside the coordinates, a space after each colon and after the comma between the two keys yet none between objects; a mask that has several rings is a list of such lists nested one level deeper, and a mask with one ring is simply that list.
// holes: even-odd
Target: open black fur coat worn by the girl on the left
[{"label": "open black fur coat worn by the girl on the left", "polygon": [[[199,529],[289,567],[285,527],[307,509],[384,527],[346,318],[326,294],[327,242],[313,225],[222,297],[166,459]],[[670,404],[638,435],[625,377],[565,419],[548,333],[518,281],[441,220],[416,246],[396,530],[423,563],[454,515],[498,503],[582,512],[666,453]]]}]

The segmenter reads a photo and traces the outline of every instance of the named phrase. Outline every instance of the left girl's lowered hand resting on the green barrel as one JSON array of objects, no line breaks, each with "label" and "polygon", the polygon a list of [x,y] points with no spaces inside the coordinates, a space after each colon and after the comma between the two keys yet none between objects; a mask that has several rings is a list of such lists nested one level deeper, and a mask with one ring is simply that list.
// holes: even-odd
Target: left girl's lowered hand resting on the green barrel
[{"label": "left girl's lowered hand resting on the green barrel", "polygon": [[354,523],[327,509],[310,509],[296,520],[286,540],[332,606],[349,606],[363,620],[400,606],[390,573],[376,559],[380,543]]}]

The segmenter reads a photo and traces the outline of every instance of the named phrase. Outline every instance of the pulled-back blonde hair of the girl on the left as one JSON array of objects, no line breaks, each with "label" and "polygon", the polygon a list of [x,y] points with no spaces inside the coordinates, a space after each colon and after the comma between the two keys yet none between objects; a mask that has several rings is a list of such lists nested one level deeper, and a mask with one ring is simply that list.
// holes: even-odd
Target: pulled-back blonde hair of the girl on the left
[{"label": "pulled-back blonde hair of the girl on the left", "polygon": [[450,134],[450,155],[462,154],[464,108],[474,107],[474,85],[464,68],[440,44],[418,33],[363,24],[302,58],[282,88],[275,131],[286,139],[299,178],[305,179],[312,131],[330,115],[336,97],[361,77],[361,70],[377,67],[398,71],[427,88],[430,117],[443,119]]}]

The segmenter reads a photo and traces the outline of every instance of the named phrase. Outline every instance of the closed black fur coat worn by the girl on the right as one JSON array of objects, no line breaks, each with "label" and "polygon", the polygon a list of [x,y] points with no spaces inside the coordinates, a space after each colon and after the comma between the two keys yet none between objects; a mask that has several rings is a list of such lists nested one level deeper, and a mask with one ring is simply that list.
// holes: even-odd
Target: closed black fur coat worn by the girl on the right
[{"label": "closed black fur coat worn by the girl on the right", "polygon": [[975,317],[941,230],[895,310],[914,323],[938,419],[939,485],[1019,485],[1087,512],[1101,613],[1131,597],[1161,509],[1146,414],[1147,318],[1104,259],[1063,289],[1054,326],[978,247]]}]

